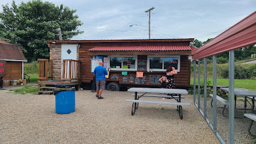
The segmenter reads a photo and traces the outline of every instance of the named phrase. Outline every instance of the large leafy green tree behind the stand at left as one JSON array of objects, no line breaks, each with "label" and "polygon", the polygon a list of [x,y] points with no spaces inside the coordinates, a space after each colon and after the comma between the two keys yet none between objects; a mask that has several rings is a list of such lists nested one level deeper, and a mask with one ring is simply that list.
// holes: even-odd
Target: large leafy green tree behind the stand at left
[{"label": "large leafy green tree behind the stand at left", "polygon": [[11,7],[2,5],[0,13],[0,39],[22,47],[28,61],[38,58],[49,58],[49,47],[46,40],[58,39],[58,28],[61,28],[62,39],[69,40],[82,34],[78,26],[83,23],[74,15],[76,10],[59,7],[51,2],[33,0]]}]

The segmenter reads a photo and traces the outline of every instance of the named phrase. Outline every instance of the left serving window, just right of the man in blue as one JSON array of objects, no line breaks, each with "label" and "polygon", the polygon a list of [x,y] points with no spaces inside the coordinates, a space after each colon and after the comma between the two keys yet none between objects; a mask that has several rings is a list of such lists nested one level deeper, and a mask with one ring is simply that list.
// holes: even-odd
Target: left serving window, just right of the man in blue
[{"label": "left serving window, just right of the man in blue", "polygon": [[136,71],[138,56],[135,55],[111,55],[108,56],[110,70]]}]

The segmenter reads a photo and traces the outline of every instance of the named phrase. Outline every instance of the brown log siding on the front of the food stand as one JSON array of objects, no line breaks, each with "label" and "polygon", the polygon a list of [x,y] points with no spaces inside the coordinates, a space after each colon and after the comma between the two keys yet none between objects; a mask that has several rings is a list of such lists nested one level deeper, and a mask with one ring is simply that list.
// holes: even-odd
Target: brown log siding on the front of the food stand
[{"label": "brown log siding on the front of the food stand", "polygon": [[[150,46],[157,46],[157,45],[165,45],[171,43],[150,43]],[[184,43],[175,43],[175,45],[184,45]],[[79,61],[81,61],[81,82],[82,83],[90,83],[93,80],[93,73],[91,73],[91,58],[95,56],[96,53],[88,52],[89,49],[96,47],[96,46],[145,46],[145,43],[81,43],[81,48],[79,49]],[[187,44],[188,45],[188,44]],[[99,53],[99,52],[97,52]],[[121,54],[123,53],[123,54]],[[147,52],[150,53],[148,55],[159,55],[157,52]],[[174,76],[176,86],[190,86],[190,61],[188,59],[188,53],[180,51],[180,72]],[[126,52],[111,52],[111,55],[125,55]],[[126,54],[127,55],[127,54]],[[147,59],[147,55],[145,53],[133,52],[133,55],[138,55],[138,59]],[[161,55],[178,55],[177,51],[173,52],[161,52]],[[100,56],[100,55],[99,55]],[[106,56],[106,55],[101,55]],[[118,74],[118,80],[112,80],[111,74]],[[128,75],[133,74],[136,76],[136,71],[128,71]],[[135,85],[159,85],[160,84],[149,84],[149,76],[150,75],[166,75],[165,72],[147,72],[144,71],[144,76],[146,76],[146,83],[145,84],[135,84],[129,82],[123,82],[123,77],[121,75],[121,71],[111,71],[109,73],[109,78],[106,81],[112,82],[119,82],[121,85],[123,84],[135,84]],[[134,80],[135,81],[135,80]]]}]

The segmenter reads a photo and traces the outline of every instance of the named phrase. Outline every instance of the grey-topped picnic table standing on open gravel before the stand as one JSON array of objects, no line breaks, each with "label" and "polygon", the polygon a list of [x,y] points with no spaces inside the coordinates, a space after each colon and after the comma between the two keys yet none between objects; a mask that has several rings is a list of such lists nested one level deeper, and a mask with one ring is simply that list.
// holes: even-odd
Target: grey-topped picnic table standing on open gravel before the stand
[{"label": "grey-topped picnic table standing on open gravel before the stand", "polygon": [[[132,104],[132,115],[135,114],[136,109],[138,109],[139,103],[151,103],[151,104],[168,104],[168,105],[176,105],[178,109],[178,114],[180,119],[183,119],[183,111],[182,106],[190,106],[190,103],[181,103],[181,94],[188,94],[186,89],[163,89],[163,88],[130,88],[128,89],[130,92],[135,92],[134,100],[126,100],[126,102],[131,102]],[[138,95],[138,92],[144,92],[144,94]],[[177,94],[177,96],[172,95],[145,95],[147,93],[159,93],[159,94]],[[141,97],[165,97],[165,98],[173,98],[177,102],[169,102],[169,101],[147,101],[147,100],[139,100]]]}]

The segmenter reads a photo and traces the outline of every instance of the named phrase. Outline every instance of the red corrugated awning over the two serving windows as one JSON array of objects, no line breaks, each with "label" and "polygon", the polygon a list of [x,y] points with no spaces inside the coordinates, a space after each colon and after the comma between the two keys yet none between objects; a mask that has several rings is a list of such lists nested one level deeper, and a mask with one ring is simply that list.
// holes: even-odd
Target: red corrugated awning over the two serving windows
[{"label": "red corrugated awning over the two serving windows", "polygon": [[191,50],[189,46],[99,46],[89,51],[175,51]]}]

